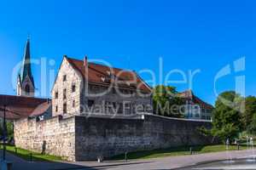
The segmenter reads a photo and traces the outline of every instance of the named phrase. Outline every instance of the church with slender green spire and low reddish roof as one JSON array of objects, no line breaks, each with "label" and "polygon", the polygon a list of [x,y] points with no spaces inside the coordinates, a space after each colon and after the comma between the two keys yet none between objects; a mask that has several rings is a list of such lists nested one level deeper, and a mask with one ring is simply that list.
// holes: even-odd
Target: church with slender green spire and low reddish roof
[{"label": "church with slender green spire and low reddish roof", "polygon": [[16,88],[16,96],[0,94],[0,116],[3,117],[3,111],[6,112],[6,117],[9,120],[17,120],[25,117],[35,117],[38,120],[44,120],[45,118],[52,116],[51,99],[34,97],[36,88],[32,76],[29,39],[26,41]]}]

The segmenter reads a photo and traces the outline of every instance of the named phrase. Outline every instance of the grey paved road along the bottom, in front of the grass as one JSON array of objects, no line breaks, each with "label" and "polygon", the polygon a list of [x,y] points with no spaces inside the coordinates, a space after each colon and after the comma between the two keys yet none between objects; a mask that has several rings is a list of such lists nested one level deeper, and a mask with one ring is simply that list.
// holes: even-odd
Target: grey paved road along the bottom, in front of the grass
[{"label": "grey paved road along the bottom, in front of the grass", "polygon": [[251,150],[241,150],[218,153],[209,153],[193,156],[172,156],[149,160],[138,161],[105,161],[97,163],[96,161],[79,162],[28,162],[19,157],[7,155],[7,159],[14,162],[14,170],[167,170],[177,169],[179,167],[189,167],[202,161],[221,161],[225,159],[240,159],[251,156]]}]

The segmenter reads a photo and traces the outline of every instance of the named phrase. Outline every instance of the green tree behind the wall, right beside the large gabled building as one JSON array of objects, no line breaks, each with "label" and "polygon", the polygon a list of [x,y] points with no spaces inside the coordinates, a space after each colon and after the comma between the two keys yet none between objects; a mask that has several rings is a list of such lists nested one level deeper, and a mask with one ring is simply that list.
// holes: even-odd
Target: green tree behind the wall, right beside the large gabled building
[{"label": "green tree behind the wall, right beside the large gabled building", "polygon": [[179,106],[183,100],[177,96],[176,88],[159,85],[154,88],[153,95],[154,113],[161,116],[183,117]]}]

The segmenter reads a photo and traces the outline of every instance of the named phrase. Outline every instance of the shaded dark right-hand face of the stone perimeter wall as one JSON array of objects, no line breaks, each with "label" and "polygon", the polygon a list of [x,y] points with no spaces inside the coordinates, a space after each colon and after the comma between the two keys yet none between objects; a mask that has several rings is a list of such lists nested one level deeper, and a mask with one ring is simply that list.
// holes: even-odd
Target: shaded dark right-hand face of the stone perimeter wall
[{"label": "shaded dark right-hand face of the stone perimeter wall", "polygon": [[76,117],[76,160],[95,160],[126,151],[154,150],[181,145],[211,144],[197,127],[211,122],[189,121],[161,116],[137,119]]}]

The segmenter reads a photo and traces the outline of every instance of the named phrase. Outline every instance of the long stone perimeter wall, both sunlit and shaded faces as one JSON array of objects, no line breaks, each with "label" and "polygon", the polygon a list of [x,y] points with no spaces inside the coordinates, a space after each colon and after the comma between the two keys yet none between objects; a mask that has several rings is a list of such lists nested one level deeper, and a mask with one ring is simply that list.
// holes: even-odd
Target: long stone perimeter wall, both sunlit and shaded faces
[{"label": "long stone perimeter wall, both sunlit and shaded faces", "polygon": [[210,144],[211,138],[198,133],[202,126],[209,128],[211,122],[148,115],[23,119],[15,122],[15,144],[38,152],[45,148],[45,153],[69,161],[96,160],[125,151]]}]

